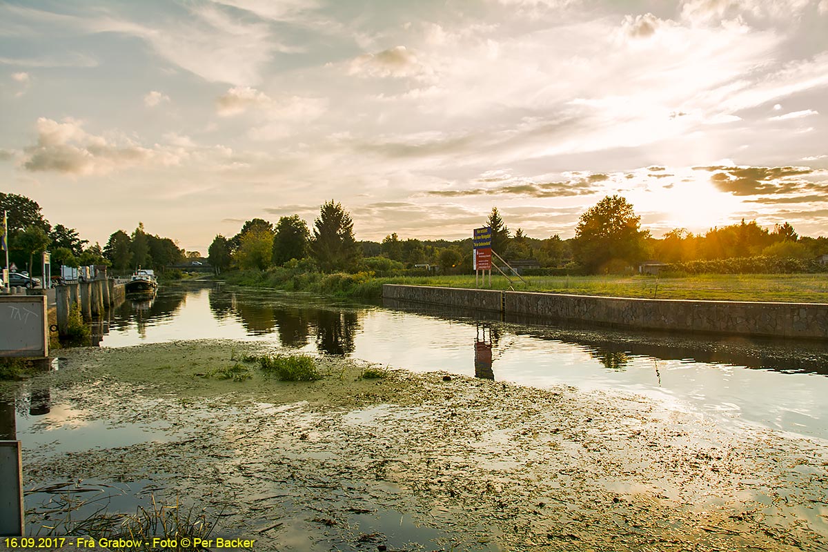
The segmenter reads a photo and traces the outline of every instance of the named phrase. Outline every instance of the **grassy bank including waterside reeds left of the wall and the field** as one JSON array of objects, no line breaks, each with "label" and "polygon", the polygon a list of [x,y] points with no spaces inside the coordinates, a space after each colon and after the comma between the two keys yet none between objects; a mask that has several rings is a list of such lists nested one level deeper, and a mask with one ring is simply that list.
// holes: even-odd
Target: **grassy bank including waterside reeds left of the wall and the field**
[{"label": "grassy bank including waterside reeds left of the wall and the field", "polygon": [[[299,273],[276,268],[233,271],[221,276],[239,286],[311,291],[320,295],[377,300],[383,284],[474,288],[474,276],[388,276]],[[786,301],[828,303],[826,274],[704,274],[695,276],[527,276],[515,290],[645,299]],[[515,280],[515,279],[513,279]],[[503,276],[492,277],[492,289],[508,290]]]}]

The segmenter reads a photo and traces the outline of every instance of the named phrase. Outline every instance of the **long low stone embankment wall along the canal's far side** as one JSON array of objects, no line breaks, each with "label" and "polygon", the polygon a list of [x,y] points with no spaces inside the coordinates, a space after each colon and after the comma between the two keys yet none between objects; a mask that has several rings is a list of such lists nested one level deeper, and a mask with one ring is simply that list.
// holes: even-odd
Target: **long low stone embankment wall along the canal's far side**
[{"label": "long low stone embankment wall along the canal's far side", "polygon": [[383,297],[630,329],[828,338],[828,305],[628,299],[526,291],[383,286]]}]

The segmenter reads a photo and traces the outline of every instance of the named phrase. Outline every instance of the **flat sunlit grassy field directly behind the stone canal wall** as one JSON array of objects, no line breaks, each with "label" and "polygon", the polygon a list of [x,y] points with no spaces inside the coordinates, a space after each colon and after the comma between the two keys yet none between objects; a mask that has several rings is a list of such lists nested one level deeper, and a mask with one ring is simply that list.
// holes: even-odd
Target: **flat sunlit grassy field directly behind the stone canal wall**
[{"label": "flat sunlit grassy field directly behind the stone canal wall", "polygon": [[[828,303],[828,274],[706,274],[656,276],[527,276],[517,291],[551,291],[576,295],[612,295],[657,299],[791,301]],[[380,278],[384,284],[474,287],[474,276]],[[492,289],[508,290],[503,276],[492,276]]]}]

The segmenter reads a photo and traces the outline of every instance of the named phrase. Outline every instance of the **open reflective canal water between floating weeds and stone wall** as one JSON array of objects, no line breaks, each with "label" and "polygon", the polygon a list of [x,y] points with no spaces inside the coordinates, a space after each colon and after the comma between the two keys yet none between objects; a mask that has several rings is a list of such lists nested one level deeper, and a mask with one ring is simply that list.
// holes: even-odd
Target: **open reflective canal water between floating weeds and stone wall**
[{"label": "open reflective canal water between floating weeds and stone wall", "polygon": [[106,331],[101,347],[265,341],[413,372],[630,391],[724,425],[828,439],[828,346],[815,341],[550,326],[429,305],[359,305],[221,284],[167,286],[152,302],[127,301],[111,314]]}]

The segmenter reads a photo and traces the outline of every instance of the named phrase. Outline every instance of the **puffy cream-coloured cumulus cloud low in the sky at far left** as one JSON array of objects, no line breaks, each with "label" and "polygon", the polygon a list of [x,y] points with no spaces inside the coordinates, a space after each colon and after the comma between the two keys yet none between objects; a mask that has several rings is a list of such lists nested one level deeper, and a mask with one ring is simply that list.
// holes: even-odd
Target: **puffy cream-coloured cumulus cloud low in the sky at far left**
[{"label": "puffy cream-coloured cumulus cloud low in the sky at far left", "polygon": [[166,151],[147,149],[124,140],[110,142],[84,132],[82,123],[66,118],[56,122],[37,120],[37,143],[23,148],[22,166],[31,172],[51,171],[69,175],[100,175],[147,162],[174,165],[179,159]]}]

